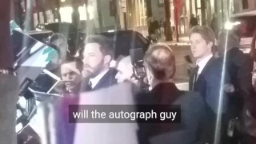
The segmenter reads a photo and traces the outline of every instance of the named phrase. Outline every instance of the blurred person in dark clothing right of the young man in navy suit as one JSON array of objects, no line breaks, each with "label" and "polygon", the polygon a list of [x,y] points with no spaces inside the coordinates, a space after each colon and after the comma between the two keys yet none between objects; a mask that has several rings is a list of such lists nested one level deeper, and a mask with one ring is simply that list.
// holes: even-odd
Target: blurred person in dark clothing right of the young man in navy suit
[{"label": "blurred person in dark clothing right of the young man in navy suit", "polygon": [[[242,50],[239,50],[239,42],[240,38],[232,30],[222,30],[218,34],[218,54],[223,58],[226,53],[226,71],[230,76],[230,84],[233,86],[229,98],[229,115],[230,118],[239,118],[242,122],[242,110],[247,108],[252,112],[250,106],[254,106],[250,104],[255,95],[251,73],[254,68],[254,60],[249,54],[244,54]],[[256,142],[256,138],[251,137],[250,140],[249,138],[249,135],[246,137],[239,134],[238,136],[242,143]],[[237,140],[235,137],[233,139]]]}]

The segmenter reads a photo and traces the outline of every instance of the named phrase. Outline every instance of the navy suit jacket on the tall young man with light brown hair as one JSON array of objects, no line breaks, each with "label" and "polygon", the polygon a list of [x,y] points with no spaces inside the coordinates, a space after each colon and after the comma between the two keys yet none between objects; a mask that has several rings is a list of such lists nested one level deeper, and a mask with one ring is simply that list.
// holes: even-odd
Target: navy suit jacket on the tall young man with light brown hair
[{"label": "navy suit jacket on the tall young man with light brown hair", "polygon": [[[192,90],[195,70],[190,75],[190,90]],[[201,94],[206,104],[206,139],[207,142],[214,142],[216,119],[218,114],[219,100],[222,98],[222,135],[226,136],[226,111],[228,107],[228,97],[226,93],[220,93],[222,90],[222,60],[210,58],[203,68],[201,74],[194,85],[194,91]],[[228,76],[223,75],[223,83],[228,82]],[[223,137],[224,138],[224,137]]]}]

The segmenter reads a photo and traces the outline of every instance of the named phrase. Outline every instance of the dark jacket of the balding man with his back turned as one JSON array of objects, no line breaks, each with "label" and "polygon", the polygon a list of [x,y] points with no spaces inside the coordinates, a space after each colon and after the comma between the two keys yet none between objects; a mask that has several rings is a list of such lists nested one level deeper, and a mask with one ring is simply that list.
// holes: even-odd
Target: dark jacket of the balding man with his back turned
[{"label": "dark jacket of the balding man with his back turned", "polygon": [[153,90],[138,98],[138,109],[142,105],[180,105],[182,122],[141,123],[139,124],[138,139],[140,144],[188,144],[203,143],[202,121],[204,117],[204,102],[196,92],[182,92],[174,83],[162,83]]}]

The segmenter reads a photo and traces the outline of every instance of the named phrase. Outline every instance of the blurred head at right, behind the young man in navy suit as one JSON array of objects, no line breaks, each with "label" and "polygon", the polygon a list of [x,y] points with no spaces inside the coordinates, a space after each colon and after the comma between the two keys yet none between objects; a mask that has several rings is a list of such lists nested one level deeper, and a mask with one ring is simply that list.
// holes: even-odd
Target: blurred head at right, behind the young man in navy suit
[{"label": "blurred head at right, behind the young man in navy suit", "polygon": [[238,48],[240,38],[233,30],[221,30],[218,34],[217,48],[218,54],[224,54],[225,49]]}]

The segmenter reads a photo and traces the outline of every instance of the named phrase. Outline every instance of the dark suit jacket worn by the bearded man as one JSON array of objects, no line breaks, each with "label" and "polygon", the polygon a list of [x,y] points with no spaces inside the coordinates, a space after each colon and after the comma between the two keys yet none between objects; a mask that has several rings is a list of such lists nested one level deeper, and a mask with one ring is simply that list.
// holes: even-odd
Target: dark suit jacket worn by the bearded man
[{"label": "dark suit jacket worn by the bearded man", "polygon": [[[117,73],[118,73],[117,70],[110,68],[110,70],[101,78],[101,80],[97,83],[96,86],[94,86],[92,90],[99,90],[99,89],[110,87],[116,84],[117,80],[115,79],[115,75]],[[84,79],[82,81],[82,88],[81,88],[82,92],[91,91],[88,88],[88,82],[89,82],[89,79]]]}]

